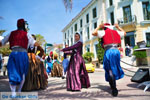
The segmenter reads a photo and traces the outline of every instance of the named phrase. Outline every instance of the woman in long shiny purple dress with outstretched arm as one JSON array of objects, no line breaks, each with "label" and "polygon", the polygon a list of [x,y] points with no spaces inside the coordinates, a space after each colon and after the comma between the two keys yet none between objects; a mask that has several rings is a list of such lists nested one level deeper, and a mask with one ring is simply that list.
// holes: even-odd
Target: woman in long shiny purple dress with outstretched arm
[{"label": "woman in long shiny purple dress with outstretched arm", "polygon": [[82,46],[81,36],[79,33],[76,33],[75,44],[62,49],[63,52],[72,51],[66,78],[68,91],[80,91],[83,87],[90,87],[89,76],[82,58]]}]

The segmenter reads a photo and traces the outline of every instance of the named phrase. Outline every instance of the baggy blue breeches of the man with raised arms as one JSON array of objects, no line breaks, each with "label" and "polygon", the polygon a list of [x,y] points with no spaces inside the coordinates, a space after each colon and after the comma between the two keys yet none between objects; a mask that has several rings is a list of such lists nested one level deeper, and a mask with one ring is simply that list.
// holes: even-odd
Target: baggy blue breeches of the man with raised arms
[{"label": "baggy blue breeches of the man with raised arms", "polygon": [[103,65],[106,81],[109,81],[109,70],[112,71],[115,80],[124,77],[124,72],[120,66],[120,52],[118,49],[108,49],[105,51]]}]

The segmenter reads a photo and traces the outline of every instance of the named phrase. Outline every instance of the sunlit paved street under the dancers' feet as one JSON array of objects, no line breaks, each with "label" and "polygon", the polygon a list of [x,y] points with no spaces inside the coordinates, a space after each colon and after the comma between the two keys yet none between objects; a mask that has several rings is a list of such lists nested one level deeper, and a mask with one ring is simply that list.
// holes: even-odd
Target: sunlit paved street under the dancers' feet
[{"label": "sunlit paved street under the dancers' feet", "polygon": [[[128,68],[133,72],[136,68]],[[131,82],[131,74],[124,70],[125,77],[117,81],[119,90],[118,97],[112,97],[109,84],[105,81],[104,70],[102,68],[94,73],[89,73],[91,87],[82,89],[80,92],[66,91],[66,79],[52,78],[48,79],[48,87],[45,90],[39,90],[40,100],[149,100],[150,89],[143,92],[144,86],[137,88],[138,83]],[[0,78],[0,92],[8,92],[8,79],[2,76]],[[37,91],[34,91],[37,92]]]}]

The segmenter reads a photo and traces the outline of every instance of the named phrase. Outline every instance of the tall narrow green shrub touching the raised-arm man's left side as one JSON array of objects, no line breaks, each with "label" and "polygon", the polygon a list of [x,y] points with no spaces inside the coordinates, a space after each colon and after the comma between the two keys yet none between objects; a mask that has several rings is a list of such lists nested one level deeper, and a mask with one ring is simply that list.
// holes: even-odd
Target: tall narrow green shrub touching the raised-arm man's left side
[{"label": "tall narrow green shrub touching the raised-arm man's left side", "polygon": [[103,57],[104,57],[104,49],[101,46],[101,39],[98,39],[98,50],[97,50],[97,57],[99,63],[103,63]]}]

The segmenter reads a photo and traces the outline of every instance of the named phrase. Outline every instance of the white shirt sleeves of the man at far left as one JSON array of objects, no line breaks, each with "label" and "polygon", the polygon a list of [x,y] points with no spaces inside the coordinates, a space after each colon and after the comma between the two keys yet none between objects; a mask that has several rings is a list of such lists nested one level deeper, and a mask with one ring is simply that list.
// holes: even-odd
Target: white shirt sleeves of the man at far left
[{"label": "white shirt sleeves of the man at far left", "polygon": [[[8,35],[6,35],[4,37],[4,39],[1,41],[2,42],[2,46],[5,45],[9,41],[10,34],[11,33],[9,33]],[[33,47],[36,41],[34,40],[34,38],[30,34],[27,34],[27,37],[28,37],[28,47],[29,46]]]}]

